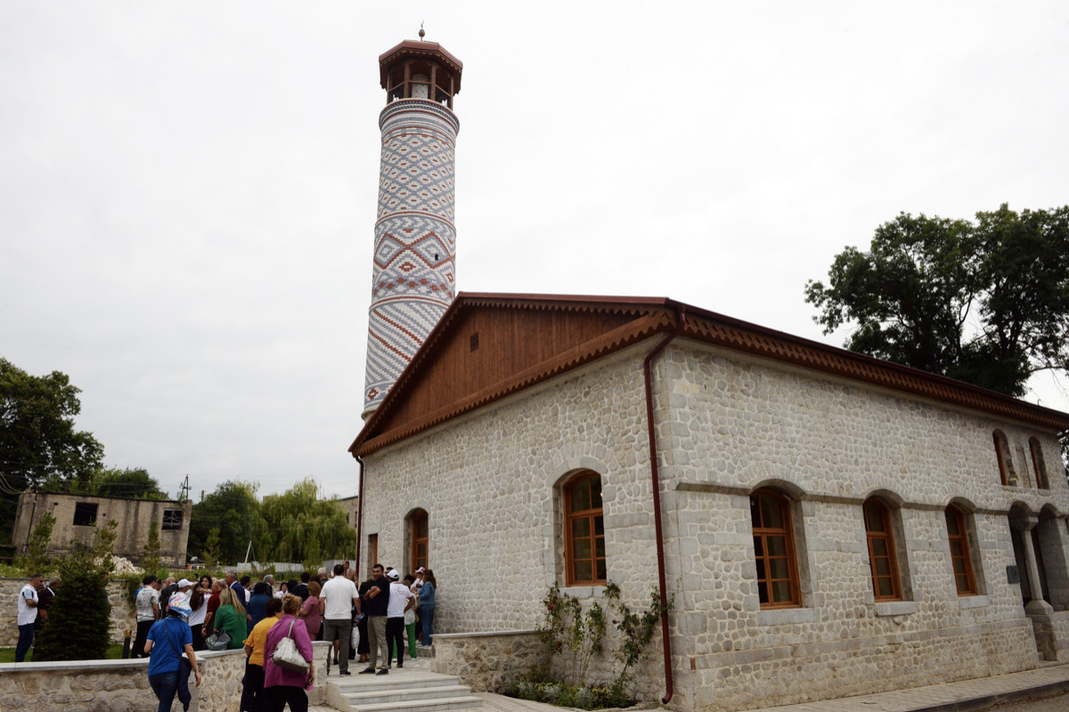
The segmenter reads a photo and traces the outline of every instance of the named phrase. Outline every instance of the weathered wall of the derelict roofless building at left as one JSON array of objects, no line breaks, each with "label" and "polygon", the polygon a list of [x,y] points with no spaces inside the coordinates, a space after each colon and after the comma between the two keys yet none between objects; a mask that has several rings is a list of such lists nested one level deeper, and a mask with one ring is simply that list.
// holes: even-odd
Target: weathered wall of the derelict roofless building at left
[{"label": "weathered wall of the derelict roofless building at left", "polygon": [[[74,494],[35,494],[24,492],[18,499],[18,512],[12,542],[22,551],[41,521],[42,515],[51,512],[56,518],[48,551],[61,554],[76,541],[91,541],[95,527],[75,524],[75,510],[79,503],[96,505],[96,524],[104,526],[108,521],[119,523],[112,551],[134,561],[140,561],[144,545],[149,541],[149,525],[153,520],[159,525],[160,559],[168,565],[185,566],[186,543],[189,539],[189,517],[192,505],[188,502],[157,502],[154,500],[120,500],[114,497],[92,497]],[[165,510],[182,512],[177,529],[164,528]]]}]

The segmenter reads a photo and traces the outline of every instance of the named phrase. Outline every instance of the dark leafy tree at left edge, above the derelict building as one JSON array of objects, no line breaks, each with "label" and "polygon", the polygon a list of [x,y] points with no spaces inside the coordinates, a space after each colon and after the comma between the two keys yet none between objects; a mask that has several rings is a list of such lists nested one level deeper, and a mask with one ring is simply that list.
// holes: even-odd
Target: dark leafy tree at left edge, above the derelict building
[{"label": "dark leafy tree at left edge, above the derelict building", "polygon": [[104,446],[76,430],[81,411],[66,374],[31,376],[0,359],[0,537],[7,541],[18,495],[46,481],[69,482],[100,468]]}]

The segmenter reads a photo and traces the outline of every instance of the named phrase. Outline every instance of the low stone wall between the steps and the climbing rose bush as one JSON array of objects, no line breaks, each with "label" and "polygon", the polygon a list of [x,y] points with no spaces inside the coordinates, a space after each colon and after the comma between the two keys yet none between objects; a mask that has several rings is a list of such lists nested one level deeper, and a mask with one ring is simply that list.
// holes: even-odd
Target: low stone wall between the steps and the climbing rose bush
[{"label": "low stone wall between the steps and the climbing rose bush", "polygon": [[538,631],[437,633],[431,671],[460,677],[474,692],[499,693],[509,675],[545,662]]}]

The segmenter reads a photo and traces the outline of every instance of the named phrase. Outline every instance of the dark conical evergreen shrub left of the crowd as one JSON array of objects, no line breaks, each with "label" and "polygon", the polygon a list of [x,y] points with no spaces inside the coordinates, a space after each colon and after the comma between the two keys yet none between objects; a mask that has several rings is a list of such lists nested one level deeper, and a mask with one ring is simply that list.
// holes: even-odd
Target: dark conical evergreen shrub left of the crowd
[{"label": "dark conical evergreen shrub left of the crowd", "polygon": [[76,542],[59,560],[62,592],[52,599],[48,622],[33,646],[33,660],[103,660],[111,638],[108,574],[115,521],[97,527],[92,542]]}]

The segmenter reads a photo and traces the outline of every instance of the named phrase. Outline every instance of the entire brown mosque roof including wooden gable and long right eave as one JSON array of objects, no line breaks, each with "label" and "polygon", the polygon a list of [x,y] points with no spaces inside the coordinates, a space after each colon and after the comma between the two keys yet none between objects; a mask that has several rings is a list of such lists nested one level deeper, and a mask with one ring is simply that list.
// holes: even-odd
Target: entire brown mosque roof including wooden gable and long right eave
[{"label": "entire brown mosque roof including wooden gable and long right eave", "polygon": [[667,298],[460,292],[350,447],[368,455],[601,359],[670,333],[1044,429],[1069,414],[916,368],[792,336]]}]

